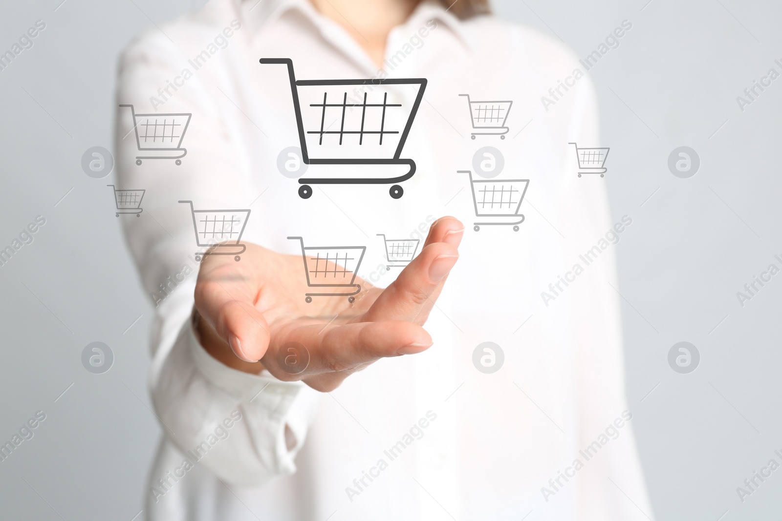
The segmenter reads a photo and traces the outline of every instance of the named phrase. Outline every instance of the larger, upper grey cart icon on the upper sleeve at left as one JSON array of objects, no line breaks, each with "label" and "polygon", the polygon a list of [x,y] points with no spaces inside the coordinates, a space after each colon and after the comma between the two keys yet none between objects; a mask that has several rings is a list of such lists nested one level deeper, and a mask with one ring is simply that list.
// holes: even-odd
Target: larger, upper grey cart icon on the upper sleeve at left
[{"label": "larger, upper grey cart icon on the upper sleeve at left", "polygon": [[182,164],[181,158],[188,153],[187,148],[182,148],[182,139],[192,113],[136,114],[133,105],[120,107],[131,109],[136,145],[141,154],[136,156],[137,165],[142,164],[142,159],[176,159],[178,165]]}]

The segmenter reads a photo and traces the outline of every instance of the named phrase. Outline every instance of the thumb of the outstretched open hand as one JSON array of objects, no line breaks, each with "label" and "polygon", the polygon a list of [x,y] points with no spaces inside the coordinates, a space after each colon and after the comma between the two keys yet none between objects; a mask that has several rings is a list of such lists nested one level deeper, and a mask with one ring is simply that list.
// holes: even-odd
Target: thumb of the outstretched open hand
[{"label": "thumb of the outstretched open hand", "polygon": [[255,307],[257,283],[245,266],[207,257],[195,283],[195,309],[231,351],[257,362],[269,347],[269,325]]}]

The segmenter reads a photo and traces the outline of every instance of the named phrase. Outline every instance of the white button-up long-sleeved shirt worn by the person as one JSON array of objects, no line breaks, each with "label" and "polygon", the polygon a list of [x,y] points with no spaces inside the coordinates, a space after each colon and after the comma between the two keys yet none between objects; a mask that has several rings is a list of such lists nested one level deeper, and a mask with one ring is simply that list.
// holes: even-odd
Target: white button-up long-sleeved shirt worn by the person
[{"label": "white button-up long-sleeved shirt worn by the person", "polygon": [[[386,53],[387,77],[428,80],[401,155],[417,171],[400,183],[400,199],[389,197],[388,184],[313,184],[303,199],[297,180],[278,171],[280,152],[300,146],[292,91],[285,66],[260,58],[292,59],[297,79],[378,77],[346,31],[305,0],[213,0],[124,52],[118,105],[163,119],[192,114],[181,165],[137,165],[138,157],[182,152],[139,151],[130,109],[117,112],[118,188],[146,191],[140,216],[120,217],[157,304],[149,383],[163,439],[145,516],[651,517],[633,422],[622,419],[629,413],[611,287],[615,246],[604,240],[614,223],[604,179],[577,177],[569,145],[598,146],[589,78],[570,80],[554,105],[543,105],[541,96],[551,98],[576,57],[529,28],[492,16],[460,21],[430,3],[391,32]],[[406,102],[416,94],[395,88]],[[461,94],[513,101],[504,140],[471,139],[476,130]],[[468,175],[458,171],[474,170],[482,146],[504,155],[498,180],[529,180],[518,231],[473,230],[486,218],[475,216]],[[406,171],[313,164],[306,177],[390,177],[383,172],[393,169]],[[400,268],[386,269],[377,234],[422,238],[432,219],[457,216],[466,226],[461,258],[426,324],[435,344],[381,360],[330,394],[222,365],[192,332],[193,255],[203,248],[180,200],[195,209],[250,209],[242,243],[278,252],[301,255],[289,236],[313,246],[366,246],[358,274],[378,286]],[[596,245],[597,259],[587,265],[579,255]],[[576,264],[583,273],[573,271]],[[572,282],[565,286],[559,276]],[[473,365],[485,341],[504,352],[496,373]]]}]

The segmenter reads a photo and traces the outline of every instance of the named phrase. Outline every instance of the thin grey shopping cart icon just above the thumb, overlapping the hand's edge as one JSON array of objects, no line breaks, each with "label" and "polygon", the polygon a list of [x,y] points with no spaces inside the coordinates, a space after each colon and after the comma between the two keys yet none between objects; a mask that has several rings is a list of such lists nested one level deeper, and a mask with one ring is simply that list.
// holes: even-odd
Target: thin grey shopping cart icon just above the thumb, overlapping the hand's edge
[{"label": "thin grey shopping cart icon just above the thumb, overlapping the hand's edge", "polygon": [[247,210],[196,210],[192,201],[180,201],[190,205],[190,213],[195,228],[195,244],[207,248],[195,252],[195,260],[200,261],[206,255],[234,255],[239,261],[240,255],[247,249],[241,244],[242,233],[247,225]]}]

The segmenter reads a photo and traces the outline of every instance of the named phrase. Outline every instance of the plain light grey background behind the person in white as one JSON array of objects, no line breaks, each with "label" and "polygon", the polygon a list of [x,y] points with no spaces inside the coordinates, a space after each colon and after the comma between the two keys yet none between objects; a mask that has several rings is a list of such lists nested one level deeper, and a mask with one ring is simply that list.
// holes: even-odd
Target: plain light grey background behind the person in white
[{"label": "plain light grey background behind the person in white", "polygon": [[[129,521],[142,509],[160,434],[145,387],[152,307],[111,215],[113,177],[91,179],[80,162],[91,146],[111,148],[120,49],[152,21],[203,2],[60,2],[5,2],[0,16],[2,51],[35,20],[47,25],[0,71],[0,246],[35,216],[47,220],[0,267],[0,441],[35,411],[47,415],[34,438],[0,462],[0,509],[4,519]],[[769,263],[780,266],[773,255],[782,256],[782,78],[744,112],[736,97],[769,68],[782,72],[773,63],[782,59],[782,5],[495,0],[494,7],[582,57],[622,20],[633,23],[589,75],[602,144],[611,147],[604,182],[612,212],[633,218],[616,247],[618,289],[627,394],[655,516],[777,518],[782,470],[744,503],[736,487],[772,457],[780,461],[773,450],[782,451],[782,275],[743,308],[736,292]],[[691,179],[666,165],[680,145],[701,157]],[[92,341],[113,349],[108,373],[81,366]],[[668,366],[678,341],[700,350],[694,373]]]}]

